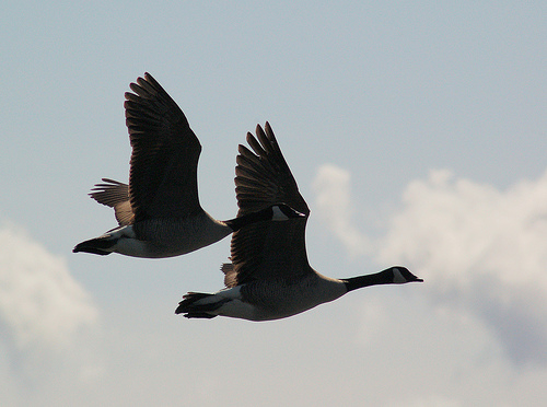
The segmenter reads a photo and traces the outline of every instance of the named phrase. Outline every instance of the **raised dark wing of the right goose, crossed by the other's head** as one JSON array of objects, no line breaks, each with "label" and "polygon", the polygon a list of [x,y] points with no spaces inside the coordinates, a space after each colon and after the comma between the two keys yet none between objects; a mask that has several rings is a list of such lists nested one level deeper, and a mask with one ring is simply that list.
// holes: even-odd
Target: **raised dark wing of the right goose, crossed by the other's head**
[{"label": "raised dark wing of the right goose, crossed by the other's head", "polygon": [[[309,214],[310,209],[287,164],[268,123],[256,128],[256,138],[247,133],[251,151],[238,147],[235,167],[237,216],[284,202]],[[224,283],[235,287],[252,280],[290,281],[311,272],[305,249],[306,220],[259,222],[232,235],[231,260],[223,265]]]}]

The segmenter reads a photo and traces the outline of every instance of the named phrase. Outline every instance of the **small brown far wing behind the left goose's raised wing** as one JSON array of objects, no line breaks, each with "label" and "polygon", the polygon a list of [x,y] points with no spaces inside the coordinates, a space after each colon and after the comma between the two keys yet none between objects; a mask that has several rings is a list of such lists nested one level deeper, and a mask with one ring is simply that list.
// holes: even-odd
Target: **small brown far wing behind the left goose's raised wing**
[{"label": "small brown far wing behind the left goose's raised wing", "polygon": [[103,178],[104,184],[96,184],[90,196],[98,203],[114,208],[116,220],[120,226],[132,224],[135,213],[129,201],[129,185],[114,179]]}]

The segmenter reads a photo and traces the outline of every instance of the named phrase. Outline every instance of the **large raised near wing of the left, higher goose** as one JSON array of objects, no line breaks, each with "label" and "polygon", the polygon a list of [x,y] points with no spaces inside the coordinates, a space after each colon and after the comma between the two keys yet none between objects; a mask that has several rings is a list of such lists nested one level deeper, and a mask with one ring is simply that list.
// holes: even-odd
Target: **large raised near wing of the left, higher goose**
[{"label": "large raised near wing of the left, higher goose", "polygon": [[150,73],[126,93],[132,153],[129,173],[135,220],[179,218],[201,210],[197,166],[201,144],[175,101]]}]

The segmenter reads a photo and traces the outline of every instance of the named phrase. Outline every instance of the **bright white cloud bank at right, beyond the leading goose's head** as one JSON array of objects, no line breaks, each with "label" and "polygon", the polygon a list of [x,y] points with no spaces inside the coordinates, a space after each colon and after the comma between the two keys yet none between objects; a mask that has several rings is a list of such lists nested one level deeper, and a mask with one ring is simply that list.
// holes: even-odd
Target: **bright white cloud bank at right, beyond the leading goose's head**
[{"label": "bright white cloud bank at right, beyond the leading goose's head", "polygon": [[[319,217],[354,255],[366,237],[346,210],[349,172],[322,166],[314,185]],[[408,265],[435,306],[481,321],[515,364],[547,365],[547,173],[498,190],[431,171],[387,224],[370,243],[379,264]]]}]

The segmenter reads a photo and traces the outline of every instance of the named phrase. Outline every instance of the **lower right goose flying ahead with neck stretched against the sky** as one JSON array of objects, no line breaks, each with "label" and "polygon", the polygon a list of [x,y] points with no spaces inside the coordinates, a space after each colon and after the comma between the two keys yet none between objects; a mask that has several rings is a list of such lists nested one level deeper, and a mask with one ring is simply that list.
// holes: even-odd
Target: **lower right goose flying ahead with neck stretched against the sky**
[{"label": "lower right goose flying ahead with neck stretched against the sky", "polygon": [[[266,131],[265,131],[266,130]],[[305,218],[245,225],[232,235],[230,263],[221,266],[225,288],[216,293],[188,292],[176,314],[187,318],[218,315],[249,321],[279,319],[336,300],[362,287],[423,281],[401,266],[360,277],[335,279],[307,261],[305,226],[310,209],[268,123],[247,133],[254,153],[238,147],[235,168],[238,214],[283,201]]]}]

